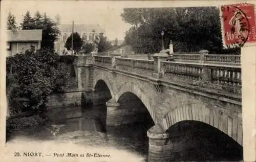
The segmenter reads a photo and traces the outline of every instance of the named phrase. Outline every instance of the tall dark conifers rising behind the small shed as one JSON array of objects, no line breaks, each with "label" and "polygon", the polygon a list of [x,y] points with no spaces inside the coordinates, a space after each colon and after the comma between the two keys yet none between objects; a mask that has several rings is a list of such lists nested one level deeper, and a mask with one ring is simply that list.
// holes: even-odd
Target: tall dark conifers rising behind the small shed
[{"label": "tall dark conifers rising behind the small shed", "polygon": [[59,34],[58,24],[46,14],[42,15],[37,11],[32,18],[27,11],[20,25],[23,30],[42,29],[41,48],[54,49],[54,41]]}]

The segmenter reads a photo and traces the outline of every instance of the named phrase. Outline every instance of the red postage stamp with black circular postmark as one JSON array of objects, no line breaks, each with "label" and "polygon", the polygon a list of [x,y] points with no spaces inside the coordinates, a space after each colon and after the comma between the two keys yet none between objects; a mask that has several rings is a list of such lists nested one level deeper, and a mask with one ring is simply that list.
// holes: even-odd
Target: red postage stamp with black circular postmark
[{"label": "red postage stamp with black circular postmark", "polygon": [[243,47],[255,43],[255,6],[232,4],[220,7],[222,41],[224,48]]}]

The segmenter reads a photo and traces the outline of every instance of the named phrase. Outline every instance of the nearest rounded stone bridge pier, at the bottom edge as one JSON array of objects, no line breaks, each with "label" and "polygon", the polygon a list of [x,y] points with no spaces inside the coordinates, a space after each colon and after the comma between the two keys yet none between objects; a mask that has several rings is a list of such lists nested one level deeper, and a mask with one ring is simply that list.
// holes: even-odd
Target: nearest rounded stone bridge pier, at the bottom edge
[{"label": "nearest rounded stone bridge pier, at the bottom edge", "polygon": [[169,162],[174,160],[173,142],[169,133],[155,125],[147,131],[148,162]]}]

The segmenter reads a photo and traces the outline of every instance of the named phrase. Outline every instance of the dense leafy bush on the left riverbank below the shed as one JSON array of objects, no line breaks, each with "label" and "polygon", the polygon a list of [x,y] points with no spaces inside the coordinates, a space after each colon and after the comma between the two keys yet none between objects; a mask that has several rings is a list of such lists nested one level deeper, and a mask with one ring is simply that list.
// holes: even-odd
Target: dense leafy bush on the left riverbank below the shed
[{"label": "dense leafy bush on the left riverbank below the shed", "polygon": [[[58,55],[43,49],[7,58],[6,70],[10,72],[6,77],[8,98],[23,98],[28,101],[22,102],[22,105],[9,104],[11,110],[44,112],[48,96],[53,92],[66,90],[70,74],[67,66],[58,63],[59,59]],[[15,86],[8,83],[10,74]]]}]

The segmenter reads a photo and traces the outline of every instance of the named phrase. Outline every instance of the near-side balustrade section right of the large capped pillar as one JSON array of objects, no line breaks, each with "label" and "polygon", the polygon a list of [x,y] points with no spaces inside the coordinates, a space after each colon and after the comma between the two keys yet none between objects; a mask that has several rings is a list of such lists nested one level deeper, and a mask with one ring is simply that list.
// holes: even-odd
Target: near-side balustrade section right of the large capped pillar
[{"label": "near-side balustrade section right of the large capped pillar", "polygon": [[241,67],[207,63],[186,63],[162,61],[163,76],[182,78],[196,82],[208,83],[212,88],[241,94]]}]

